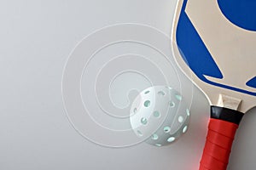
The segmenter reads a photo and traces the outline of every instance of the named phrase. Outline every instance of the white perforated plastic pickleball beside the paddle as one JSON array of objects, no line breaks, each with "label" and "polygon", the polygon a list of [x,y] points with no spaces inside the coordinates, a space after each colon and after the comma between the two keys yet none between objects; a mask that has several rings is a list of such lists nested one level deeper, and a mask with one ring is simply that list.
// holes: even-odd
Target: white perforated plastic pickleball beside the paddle
[{"label": "white perforated plastic pickleball beside the paddle", "polygon": [[131,127],[148,144],[172,144],[189,126],[189,105],[177,90],[154,86],[143,90],[133,101]]}]

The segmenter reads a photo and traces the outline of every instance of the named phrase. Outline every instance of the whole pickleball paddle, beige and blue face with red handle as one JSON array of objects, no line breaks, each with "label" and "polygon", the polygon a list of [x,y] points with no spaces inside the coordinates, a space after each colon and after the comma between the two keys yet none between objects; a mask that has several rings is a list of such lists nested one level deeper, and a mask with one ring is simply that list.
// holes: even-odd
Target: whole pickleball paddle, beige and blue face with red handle
[{"label": "whole pickleball paddle, beige and blue face with red handle", "polygon": [[200,170],[224,170],[241,118],[256,105],[256,1],[179,0],[177,65],[211,105]]}]

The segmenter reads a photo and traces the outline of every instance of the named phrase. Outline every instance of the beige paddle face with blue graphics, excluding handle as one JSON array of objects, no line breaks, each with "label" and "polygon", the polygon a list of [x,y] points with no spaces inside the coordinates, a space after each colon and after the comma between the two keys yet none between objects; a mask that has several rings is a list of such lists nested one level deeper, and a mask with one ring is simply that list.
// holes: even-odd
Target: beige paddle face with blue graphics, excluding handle
[{"label": "beige paddle face with blue graphics, excluding handle", "polygon": [[255,8],[256,2],[239,0],[177,3],[173,53],[211,105],[219,94],[241,99],[241,112],[256,105]]}]

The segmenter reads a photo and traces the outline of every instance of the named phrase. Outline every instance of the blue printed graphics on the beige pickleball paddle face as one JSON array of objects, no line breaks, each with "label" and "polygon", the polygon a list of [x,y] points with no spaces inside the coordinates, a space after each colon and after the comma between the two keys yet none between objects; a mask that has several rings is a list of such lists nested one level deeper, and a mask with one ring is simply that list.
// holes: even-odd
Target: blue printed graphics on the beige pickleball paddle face
[{"label": "blue printed graphics on the beige pickleball paddle face", "polygon": [[[214,59],[212,59],[211,54],[189,20],[188,15],[185,13],[187,2],[188,0],[183,1],[183,7],[177,23],[176,35],[177,46],[187,65],[189,65],[190,69],[203,82],[256,96],[256,93],[245,89],[207,80],[205,76],[221,79],[223,78],[223,74]],[[230,20],[230,23],[241,27],[241,29],[256,31],[256,1],[218,0],[218,5],[224,16]],[[246,82],[246,85],[250,88],[256,88],[256,77]]]}]

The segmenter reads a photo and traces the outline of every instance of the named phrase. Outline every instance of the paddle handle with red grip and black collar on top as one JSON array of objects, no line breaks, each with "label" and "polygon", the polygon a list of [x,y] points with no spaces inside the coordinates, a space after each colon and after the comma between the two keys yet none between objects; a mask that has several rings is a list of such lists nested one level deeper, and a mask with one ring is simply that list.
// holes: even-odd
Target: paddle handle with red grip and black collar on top
[{"label": "paddle handle with red grip and black collar on top", "polygon": [[217,106],[212,107],[200,170],[226,170],[236,129],[243,114]]}]

